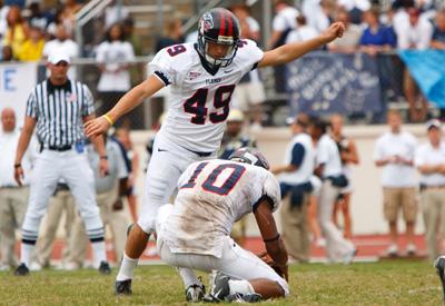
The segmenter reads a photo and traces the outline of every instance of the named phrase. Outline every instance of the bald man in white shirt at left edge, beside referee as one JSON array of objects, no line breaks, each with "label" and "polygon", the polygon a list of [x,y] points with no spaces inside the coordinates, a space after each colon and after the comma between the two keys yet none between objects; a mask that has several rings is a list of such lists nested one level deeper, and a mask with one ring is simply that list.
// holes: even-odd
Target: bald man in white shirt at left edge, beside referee
[{"label": "bald man in white shirt at left edge, beside referee", "polygon": [[[23,221],[29,196],[29,177],[19,187],[14,179],[14,157],[20,131],[16,128],[16,113],[11,108],[1,111],[0,132],[0,269],[17,266],[14,256],[16,228]],[[26,154],[22,167],[30,172],[31,155]]]}]

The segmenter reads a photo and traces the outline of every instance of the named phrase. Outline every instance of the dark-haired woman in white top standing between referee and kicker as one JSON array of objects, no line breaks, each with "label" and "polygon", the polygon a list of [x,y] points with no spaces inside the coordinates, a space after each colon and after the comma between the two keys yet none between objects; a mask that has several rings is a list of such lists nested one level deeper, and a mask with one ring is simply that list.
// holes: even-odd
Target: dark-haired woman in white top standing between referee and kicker
[{"label": "dark-haired woman in white top standing between referee and kicker", "polygon": [[[134,59],[132,46],[125,41],[121,24],[112,24],[107,31],[106,39],[96,51],[96,60],[99,62],[101,71],[98,85],[101,105],[98,107],[98,115],[110,110],[130,90],[129,61]],[[129,116],[131,117],[131,113]]]}]

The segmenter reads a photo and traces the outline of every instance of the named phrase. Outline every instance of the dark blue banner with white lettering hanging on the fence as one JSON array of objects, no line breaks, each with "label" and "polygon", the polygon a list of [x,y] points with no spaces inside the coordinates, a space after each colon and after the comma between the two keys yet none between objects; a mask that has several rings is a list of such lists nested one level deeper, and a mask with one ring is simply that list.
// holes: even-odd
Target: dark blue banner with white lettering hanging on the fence
[{"label": "dark blue banner with white lettering hanging on the fence", "polygon": [[382,111],[376,60],[367,55],[313,52],[287,68],[293,116]]}]

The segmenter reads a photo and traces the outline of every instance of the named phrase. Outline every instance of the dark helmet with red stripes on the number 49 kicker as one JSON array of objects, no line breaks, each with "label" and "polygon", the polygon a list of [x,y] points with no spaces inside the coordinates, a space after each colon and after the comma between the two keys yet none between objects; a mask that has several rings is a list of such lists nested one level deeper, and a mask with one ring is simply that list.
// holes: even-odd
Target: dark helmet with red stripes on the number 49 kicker
[{"label": "dark helmet with red stripes on the number 49 kicker", "polygon": [[[202,14],[198,23],[199,55],[210,67],[227,67],[234,60],[238,49],[240,27],[238,19],[229,10],[211,9]],[[228,46],[226,55],[214,58],[208,53],[208,42]]]}]

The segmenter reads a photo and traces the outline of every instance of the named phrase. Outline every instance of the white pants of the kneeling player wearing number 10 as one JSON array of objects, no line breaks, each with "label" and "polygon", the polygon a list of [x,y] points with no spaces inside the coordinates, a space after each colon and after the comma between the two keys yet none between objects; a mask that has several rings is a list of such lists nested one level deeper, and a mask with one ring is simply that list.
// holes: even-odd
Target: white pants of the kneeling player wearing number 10
[{"label": "white pants of the kneeling player wearing number 10", "polygon": [[[161,228],[161,224],[168,218],[171,209],[171,204],[167,204],[160,209],[157,228]],[[289,286],[283,277],[258,256],[237,245],[229,236],[222,239],[222,255],[218,258],[211,255],[171,253],[162,237],[162,230],[157,230],[157,234],[158,254],[164,261],[171,266],[208,273],[218,270],[231,279],[238,280],[266,278],[276,282],[283,288],[285,295],[289,295]]]}]

